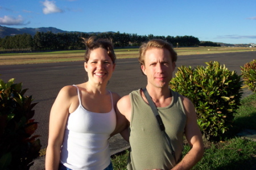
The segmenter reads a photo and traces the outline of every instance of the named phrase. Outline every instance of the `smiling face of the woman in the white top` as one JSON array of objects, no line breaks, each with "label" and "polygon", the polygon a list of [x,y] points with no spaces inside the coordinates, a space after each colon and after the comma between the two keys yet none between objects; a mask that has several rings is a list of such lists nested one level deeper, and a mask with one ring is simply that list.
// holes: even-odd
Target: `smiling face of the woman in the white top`
[{"label": "smiling face of the woman in the white top", "polygon": [[88,62],[85,62],[88,80],[96,84],[108,83],[114,68],[115,64],[113,64],[108,52],[103,48],[92,50]]}]

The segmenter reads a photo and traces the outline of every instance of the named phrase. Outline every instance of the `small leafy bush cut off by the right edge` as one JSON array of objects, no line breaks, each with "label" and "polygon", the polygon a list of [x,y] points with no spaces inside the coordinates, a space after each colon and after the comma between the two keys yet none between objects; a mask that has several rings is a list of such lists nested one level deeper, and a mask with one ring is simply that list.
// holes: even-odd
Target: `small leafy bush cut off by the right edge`
[{"label": "small leafy bush cut off by the right edge", "polygon": [[256,92],[256,60],[246,63],[241,66],[243,83],[245,83],[249,90]]}]

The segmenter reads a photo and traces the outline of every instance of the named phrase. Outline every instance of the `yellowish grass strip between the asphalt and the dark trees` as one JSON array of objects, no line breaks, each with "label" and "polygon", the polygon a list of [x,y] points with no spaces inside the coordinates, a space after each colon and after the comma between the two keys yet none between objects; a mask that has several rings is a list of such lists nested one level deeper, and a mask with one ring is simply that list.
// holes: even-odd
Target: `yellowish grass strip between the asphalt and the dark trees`
[{"label": "yellowish grass strip between the asphalt and the dark trees", "polygon": [[[228,48],[228,47],[198,47],[198,48],[175,48],[178,56],[193,54],[249,52],[256,48]],[[0,54],[0,65],[18,65],[28,63],[84,61],[85,50],[68,50],[45,53],[9,53]],[[120,58],[137,58],[138,48],[115,49],[115,55]]]}]

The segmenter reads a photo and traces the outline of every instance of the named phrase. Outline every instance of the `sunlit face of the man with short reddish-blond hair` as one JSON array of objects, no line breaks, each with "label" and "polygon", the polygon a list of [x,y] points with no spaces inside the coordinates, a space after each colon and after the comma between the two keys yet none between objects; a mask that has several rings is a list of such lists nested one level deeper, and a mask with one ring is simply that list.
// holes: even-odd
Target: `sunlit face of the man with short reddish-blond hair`
[{"label": "sunlit face of the man with short reddish-blond hair", "polygon": [[141,66],[147,76],[148,85],[154,87],[168,86],[175,69],[171,54],[167,49],[151,48],[145,53],[144,65]]}]

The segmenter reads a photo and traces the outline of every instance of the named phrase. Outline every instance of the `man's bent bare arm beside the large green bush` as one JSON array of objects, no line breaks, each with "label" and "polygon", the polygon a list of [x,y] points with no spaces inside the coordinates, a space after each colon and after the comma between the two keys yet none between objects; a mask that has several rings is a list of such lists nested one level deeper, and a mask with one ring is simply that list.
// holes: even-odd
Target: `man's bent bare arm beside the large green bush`
[{"label": "man's bent bare arm beside the large green bush", "polygon": [[191,169],[204,155],[204,143],[201,131],[197,125],[195,107],[187,97],[181,96],[181,99],[183,100],[187,115],[185,137],[191,146],[191,150],[189,150],[181,162],[172,168],[172,170]]}]

